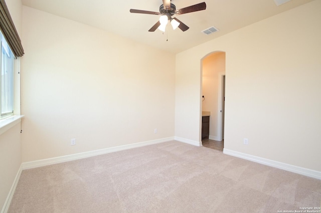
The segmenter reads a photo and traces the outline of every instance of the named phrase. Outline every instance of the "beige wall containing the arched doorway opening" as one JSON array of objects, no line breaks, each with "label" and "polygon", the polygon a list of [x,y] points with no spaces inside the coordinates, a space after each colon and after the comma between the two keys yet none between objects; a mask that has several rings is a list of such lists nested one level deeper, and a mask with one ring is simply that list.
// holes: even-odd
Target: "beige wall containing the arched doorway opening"
[{"label": "beige wall containing the arched doorway opening", "polygon": [[320,9],[312,1],[177,54],[175,135],[199,140],[200,63],[221,50],[225,148],[321,171]]}]

